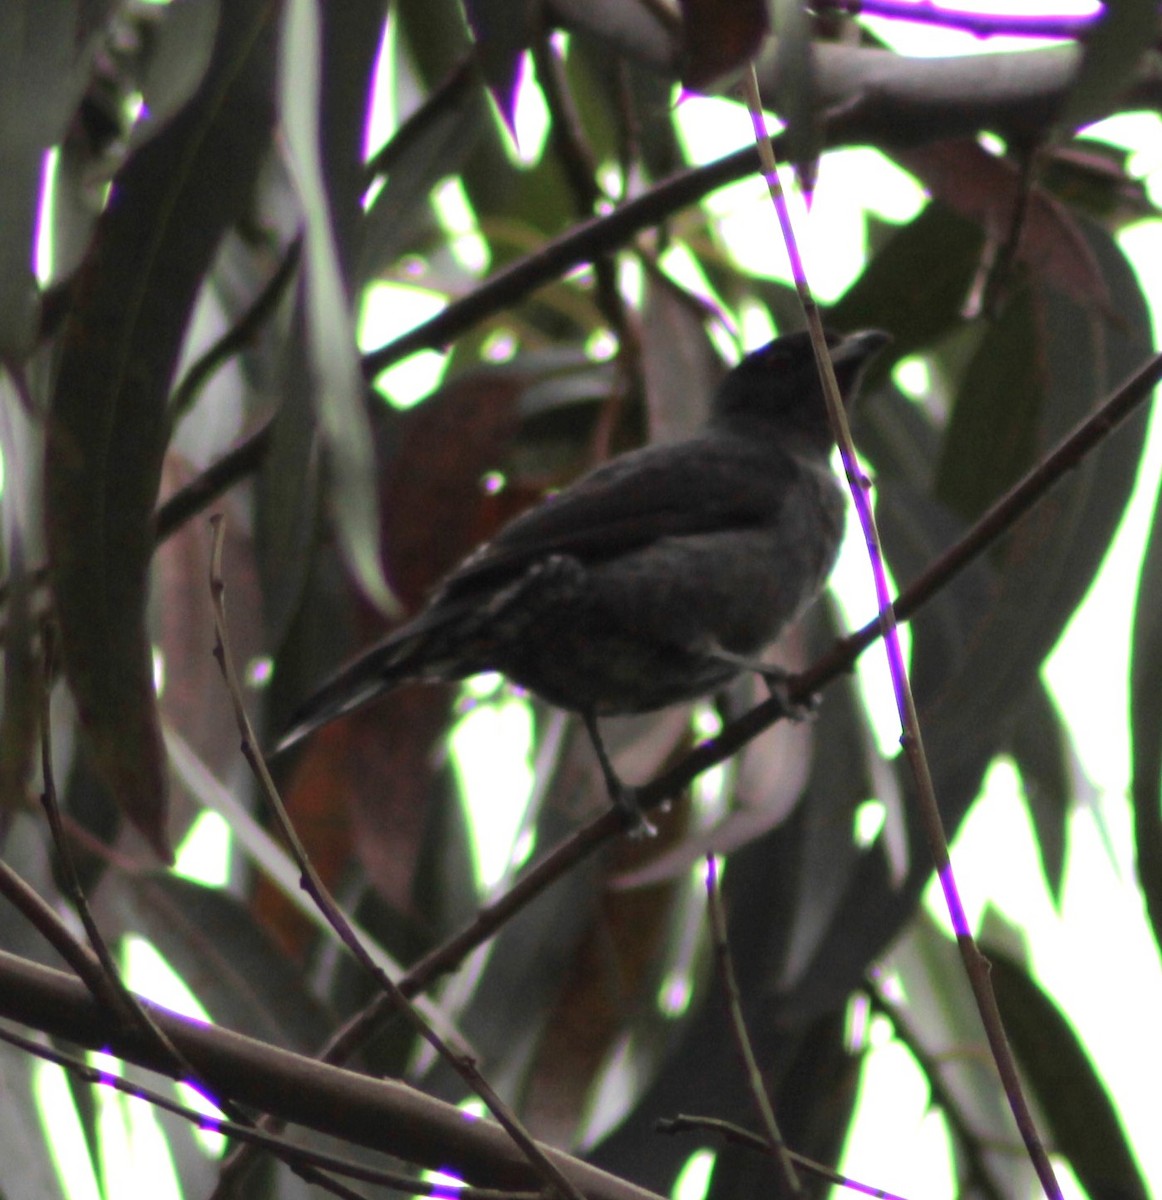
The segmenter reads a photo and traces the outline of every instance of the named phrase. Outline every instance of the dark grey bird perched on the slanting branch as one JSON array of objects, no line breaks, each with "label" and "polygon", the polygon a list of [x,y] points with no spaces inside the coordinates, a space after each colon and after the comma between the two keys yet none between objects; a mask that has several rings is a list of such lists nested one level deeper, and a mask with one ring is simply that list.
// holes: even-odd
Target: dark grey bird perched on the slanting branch
[{"label": "dark grey bird perched on the slanting branch", "polygon": [[[827,335],[845,398],[887,341]],[[808,335],[748,354],[693,437],[621,455],[505,526],[307,700],[278,750],[407,680],[499,671],[581,714],[610,796],[640,823],[597,719],[705,696],[747,670],[772,678],[759,655],[839,550],[832,445]]]}]

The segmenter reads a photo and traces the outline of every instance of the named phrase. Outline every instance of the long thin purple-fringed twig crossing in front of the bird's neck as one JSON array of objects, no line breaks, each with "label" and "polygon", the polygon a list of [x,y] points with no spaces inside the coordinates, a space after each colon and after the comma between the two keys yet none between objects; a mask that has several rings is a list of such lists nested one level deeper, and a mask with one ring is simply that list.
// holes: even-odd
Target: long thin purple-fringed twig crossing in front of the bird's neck
[{"label": "long thin purple-fringed twig crossing in front of the bird's neck", "polygon": [[827,354],[827,343],[823,337],[822,320],[819,308],[810,294],[807,283],[807,275],[798,254],[795,240],[795,230],[791,226],[790,211],[786,199],[779,185],[778,168],[774,161],[774,151],[767,137],[766,120],[762,115],[762,102],[759,97],[759,80],[751,66],[744,76],[743,82],[747,92],[747,106],[750,109],[751,121],[755,126],[755,142],[759,155],[763,161],[763,173],[771,188],[771,198],[778,214],[779,226],[783,229],[783,240],[786,244],[787,254],[791,259],[791,271],[795,277],[795,287],[799,294],[803,311],[807,316],[808,328],[811,330],[811,341],[815,346],[815,358],[819,364],[823,380],[823,395],[827,400],[827,410],[831,416],[832,430],[839,443],[839,452],[843,458],[844,469],[847,474],[847,482],[855,502],[856,514],[863,529],[863,536],[868,546],[868,557],[872,563],[872,576],[875,583],[876,602],[880,610],[880,631],[887,650],[888,670],[892,676],[892,690],[896,695],[897,710],[900,720],[900,744],[908,756],[912,776],[916,780],[917,805],[921,824],[928,840],[929,852],[936,868],[940,887],[944,892],[945,905],[948,908],[948,917],[956,932],[957,946],[960,948],[960,958],[964,961],[964,970],[969,977],[976,1006],[984,1022],[984,1032],[988,1037],[989,1049],[993,1052],[993,1061],[996,1063],[996,1072],[1008,1098],[1008,1105],[1013,1112],[1013,1120],[1020,1130],[1020,1136],[1025,1142],[1030,1162],[1041,1186],[1049,1200],[1060,1200],[1061,1187],[1058,1183],[1053,1164],[1046,1152],[1044,1144],[1037,1132],[1036,1122],[1025,1099],[1024,1087],[1017,1070],[1017,1062],[1013,1057],[1012,1048],[1005,1034],[1005,1026],[1001,1021],[1000,1010],[996,1007],[996,996],[993,992],[993,984],[989,978],[988,960],[981,954],[969,919],[960,900],[956,876],[952,871],[952,858],[948,853],[948,838],[945,833],[944,821],[940,816],[940,806],[936,803],[935,787],[932,773],[928,767],[928,757],[924,754],[923,734],[920,728],[920,718],[916,713],[916,701],[912,696],[911,680],[908,677],[908,666],[904,660],[904,650],[900,646],[899,629],[896,620],[896,612],[892,604],[892,595],[888,589],[887,574],[884,569],[884,551],[880,545],[880,535],[875,524],[875,515],[868,498],[868,482],[859,470],[855,444],[851,440],[851,430],[847,427],[847,416],[844,412],[843,400],[839,395],[839,385],[835,383],[834,370],[831,358]]}]

